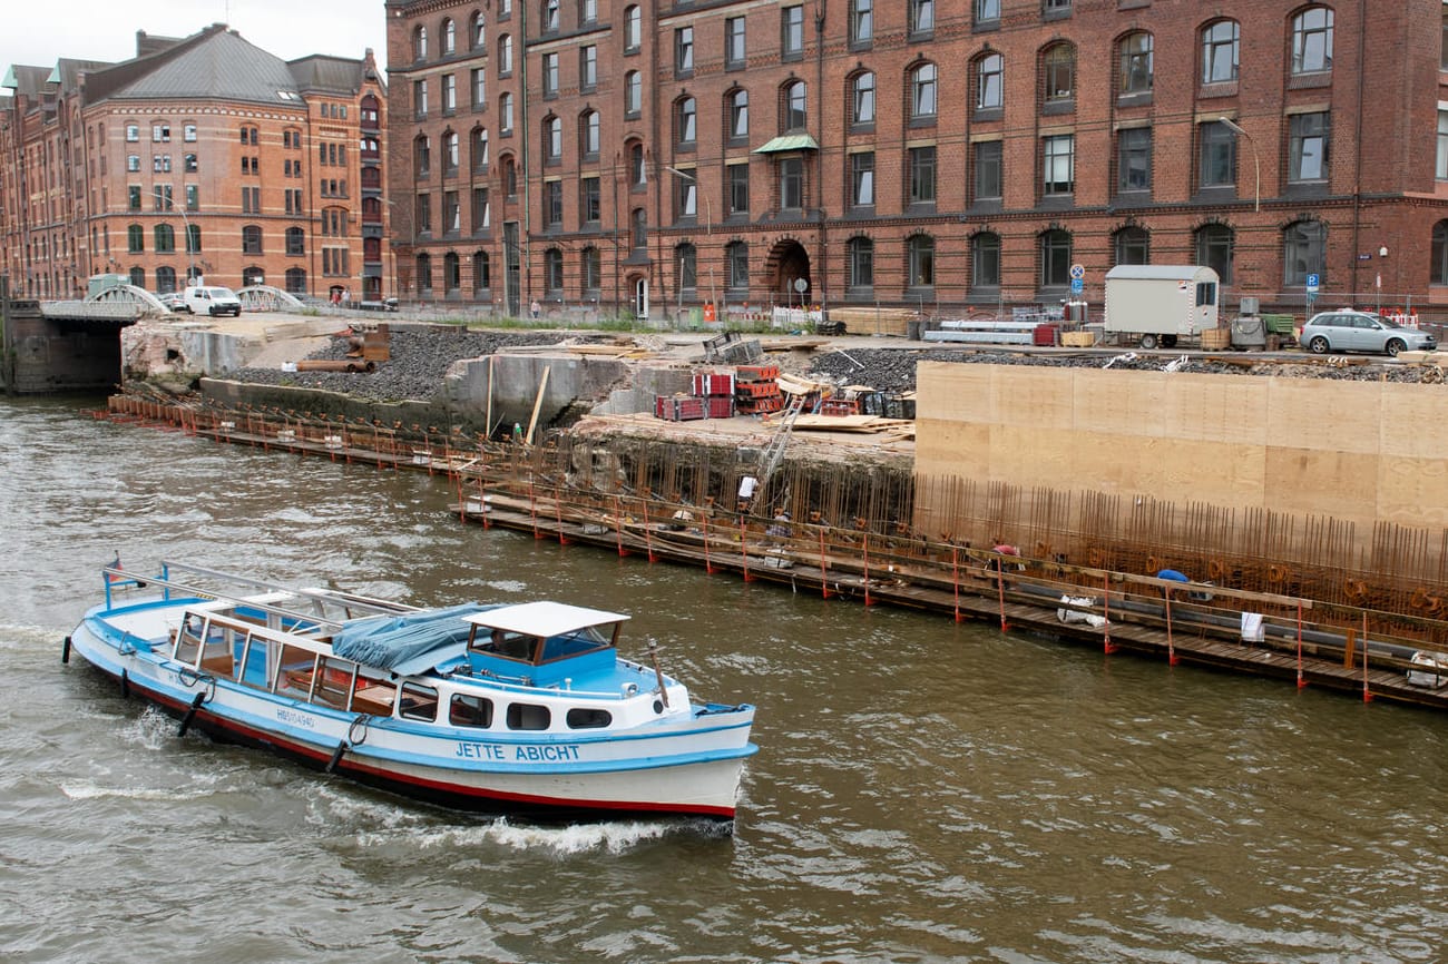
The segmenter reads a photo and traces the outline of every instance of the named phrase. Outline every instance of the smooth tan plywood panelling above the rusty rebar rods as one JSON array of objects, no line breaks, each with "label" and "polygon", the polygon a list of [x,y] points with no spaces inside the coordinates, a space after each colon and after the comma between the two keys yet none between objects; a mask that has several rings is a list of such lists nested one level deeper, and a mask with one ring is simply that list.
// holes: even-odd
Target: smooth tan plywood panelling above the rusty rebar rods
[{"label": "smooth tan plywood panelling above the rusty rebar rods", "polygon": [[[917,479],[1448,527],[1448,386],[921,363]],[[948,515],[917,494],[917,523]]]}]

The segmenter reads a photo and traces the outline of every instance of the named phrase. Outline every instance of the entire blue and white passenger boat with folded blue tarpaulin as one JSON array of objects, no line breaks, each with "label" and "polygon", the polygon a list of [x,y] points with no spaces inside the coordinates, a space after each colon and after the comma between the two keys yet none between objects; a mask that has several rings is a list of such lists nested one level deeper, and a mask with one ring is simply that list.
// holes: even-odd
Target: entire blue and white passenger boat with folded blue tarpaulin
[{"label": "entire blue and white passenger boat with folded blue tarpaulin", "polygon": [[733,819],[754,708],[696,703],[618,656],[627,615],[559,602],[418,609],[164,563],[104,569],[65,640],[181,734],[274,748],[452,808]]}]

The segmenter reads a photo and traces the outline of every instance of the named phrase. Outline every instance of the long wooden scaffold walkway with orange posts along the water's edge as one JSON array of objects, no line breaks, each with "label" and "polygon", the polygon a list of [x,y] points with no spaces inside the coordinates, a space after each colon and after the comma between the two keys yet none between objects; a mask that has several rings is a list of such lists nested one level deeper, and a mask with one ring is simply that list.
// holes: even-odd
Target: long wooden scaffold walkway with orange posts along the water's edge
[{"label": "long wooden scaffold walkway with orange posts along the water's edge", "polygon": [[[447,436],[417,441],[378,424],[317,424],[275,414],[229,417],[135,401],[119,410],[113,402],[109,417],[230,444],[445,475],[458,492],[452,511],[460,520],[537,538],[701,566],[824,598],[1027,630],[1105,653],[1127,651],[1169,664],[1184,660],[1348,692],[1364,701],[1448,709],[1448,685],[1407,682],[1413,669],[1409,657],[1419,646],[1439,656],[1448,648],[1445,621],[1219,586],[1205,599],[1200,583],[925,544],[864,528],[789,524],[782,534],[772,533],[776,527],[769,520],[733,517],[717,507],[568,489],[559,479],[534,475],[530,449],[455,447]],[[681,510],[689,518],[672,518]],[[1063,602],[1061,596],[1087,602]],[[1261,643],[1241,640],[1242,611],[1263,612],[1273,628]],[[1063,612],[1103,617],[1106,624],[1063,621]],[[1448,683],[1448,673],[1442,682]]]}]

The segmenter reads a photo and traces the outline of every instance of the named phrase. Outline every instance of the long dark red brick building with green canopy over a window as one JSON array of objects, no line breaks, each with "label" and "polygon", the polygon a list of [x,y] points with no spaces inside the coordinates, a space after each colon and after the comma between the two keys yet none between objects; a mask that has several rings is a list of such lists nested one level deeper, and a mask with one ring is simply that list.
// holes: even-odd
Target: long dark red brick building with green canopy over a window
[{"label": "long dark red brick building with green canopy over a window", "polygon": [[[1448,305],[1441,0],[388,0],[404,295]],[[802,282],[802,285],[801,285]]]}]

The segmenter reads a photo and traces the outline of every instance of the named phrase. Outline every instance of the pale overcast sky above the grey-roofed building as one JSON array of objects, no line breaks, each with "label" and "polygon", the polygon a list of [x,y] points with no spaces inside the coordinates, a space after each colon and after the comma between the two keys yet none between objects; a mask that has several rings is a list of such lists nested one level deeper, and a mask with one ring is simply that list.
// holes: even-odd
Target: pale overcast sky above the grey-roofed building
[{"label": "pale overcast sky above the grey-roofed building", "polygon": [[[10,7],[0,25],[0,75],[12,64],[54,67],[78,61],[125,61],[136,55],[136,30],[190,36],[211,23],[229,23],[245,39],[292,61],[308,54],[361,58],[376,52],[387,69],[387,16],[382,0],[39,0],[35,13]],[[35,3],[35,0],[29,0]],[[0,91],[4,93],[4,91]]]}]

